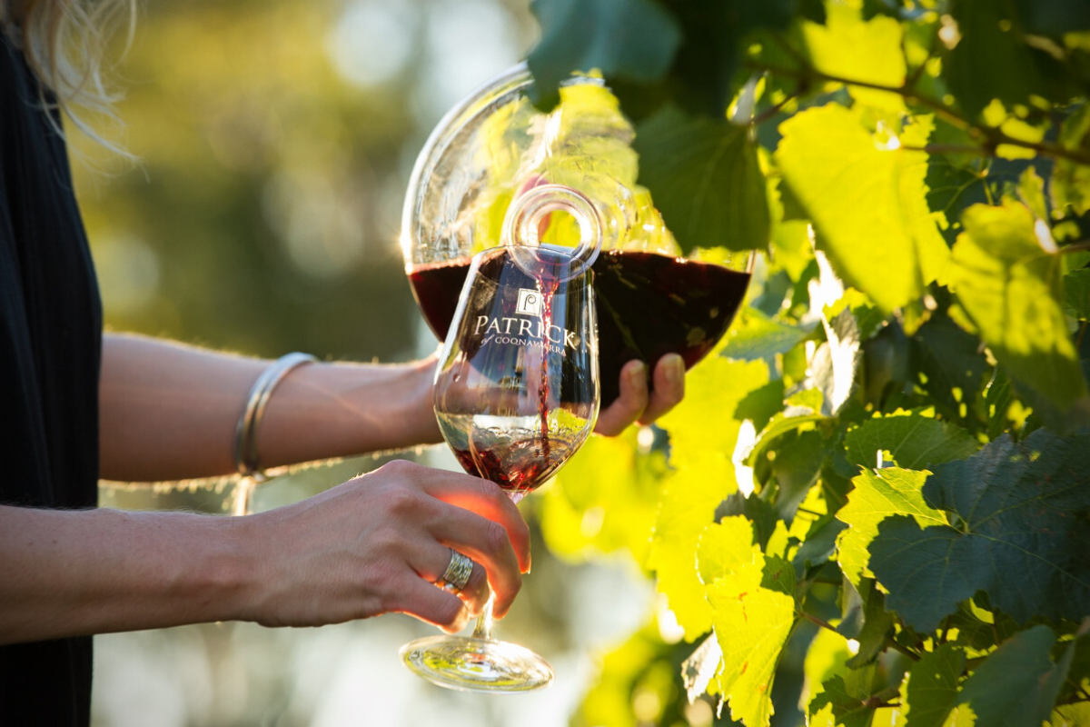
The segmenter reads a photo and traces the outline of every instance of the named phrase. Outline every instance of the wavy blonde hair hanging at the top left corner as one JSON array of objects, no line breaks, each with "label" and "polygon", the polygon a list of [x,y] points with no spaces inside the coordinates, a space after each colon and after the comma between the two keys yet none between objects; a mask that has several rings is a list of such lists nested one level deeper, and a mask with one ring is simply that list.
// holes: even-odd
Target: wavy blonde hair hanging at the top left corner
[{"label": "wavy blonde hair hanging at the top left corner", "polygon": [[[119,123],[113,105],[119,95],[105,82],[110,32],[128,17],[129,38],[135,0],[0,0],[0,31],[23,51],[43,88],[47,109],[57,108],[76,128],[104,146],[129,156],[86,121],[84,111]],[[52,121],[52,117],[50,117]],[[63,135],[61,129],[58,133]]]}]

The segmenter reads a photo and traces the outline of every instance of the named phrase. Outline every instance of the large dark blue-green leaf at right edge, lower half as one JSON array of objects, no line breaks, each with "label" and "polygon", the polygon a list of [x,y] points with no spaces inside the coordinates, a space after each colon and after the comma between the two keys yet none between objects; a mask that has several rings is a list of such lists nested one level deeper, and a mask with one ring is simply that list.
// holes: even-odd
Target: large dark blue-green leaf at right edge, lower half
[{"label": "large dark blue-green leaf at right edge, lower half", "polygon": [[1004,435],[967,460],[938,465],[923,494],[958,526],[921,529],[905,517],[879,525],[870,568],[889,593],[886,605],[921,633],[978,591],[1019,623],[1082,618],[1090,603],[1088,472],[1090,435],[1045,429],[1017,444]]}]

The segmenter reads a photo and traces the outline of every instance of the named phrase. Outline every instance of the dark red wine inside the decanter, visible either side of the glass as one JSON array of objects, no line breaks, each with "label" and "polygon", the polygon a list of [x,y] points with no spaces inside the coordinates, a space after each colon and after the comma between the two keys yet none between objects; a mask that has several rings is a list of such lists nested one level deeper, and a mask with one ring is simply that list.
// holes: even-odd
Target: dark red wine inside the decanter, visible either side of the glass
[{"label": "dark red wine inside the decanter, visible either side of the glass", "polygon": [[[417,265],[408,272],[428,326],[445,339],[470,260]],[[614,250],[594,263],[602,403],[618,396],[620,368],[678,353],[692,367],[730,327],[748,271],[657,253]]]}]

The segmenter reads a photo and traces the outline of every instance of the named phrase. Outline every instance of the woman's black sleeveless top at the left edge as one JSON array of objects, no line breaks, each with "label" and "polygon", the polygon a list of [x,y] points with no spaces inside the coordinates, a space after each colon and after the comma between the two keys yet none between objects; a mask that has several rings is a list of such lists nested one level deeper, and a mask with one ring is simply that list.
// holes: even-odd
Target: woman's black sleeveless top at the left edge
[{"label": "woman's black sleeveless top at the left edge", "polygon": [[[101,318],[64,141],[0,27],[0,504],[96,505]],[[90,643],[0,646],[0,725],[88,725]]]}]

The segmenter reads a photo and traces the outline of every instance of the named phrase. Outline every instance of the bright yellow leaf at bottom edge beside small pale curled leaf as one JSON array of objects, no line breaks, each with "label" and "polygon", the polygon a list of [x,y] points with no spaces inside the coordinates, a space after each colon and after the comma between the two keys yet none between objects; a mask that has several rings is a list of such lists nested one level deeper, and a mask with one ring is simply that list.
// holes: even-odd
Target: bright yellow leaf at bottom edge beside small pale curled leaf
[{"label": "bright yellow leaf at bottom edge beside small pale curled leaf", "polygon": [[763,587],[764,564],[742,566],[707,586],[712,621],[723,650],[716,679],[732,719],[767,727],[779,653],[795,625],[794,595]]}]

